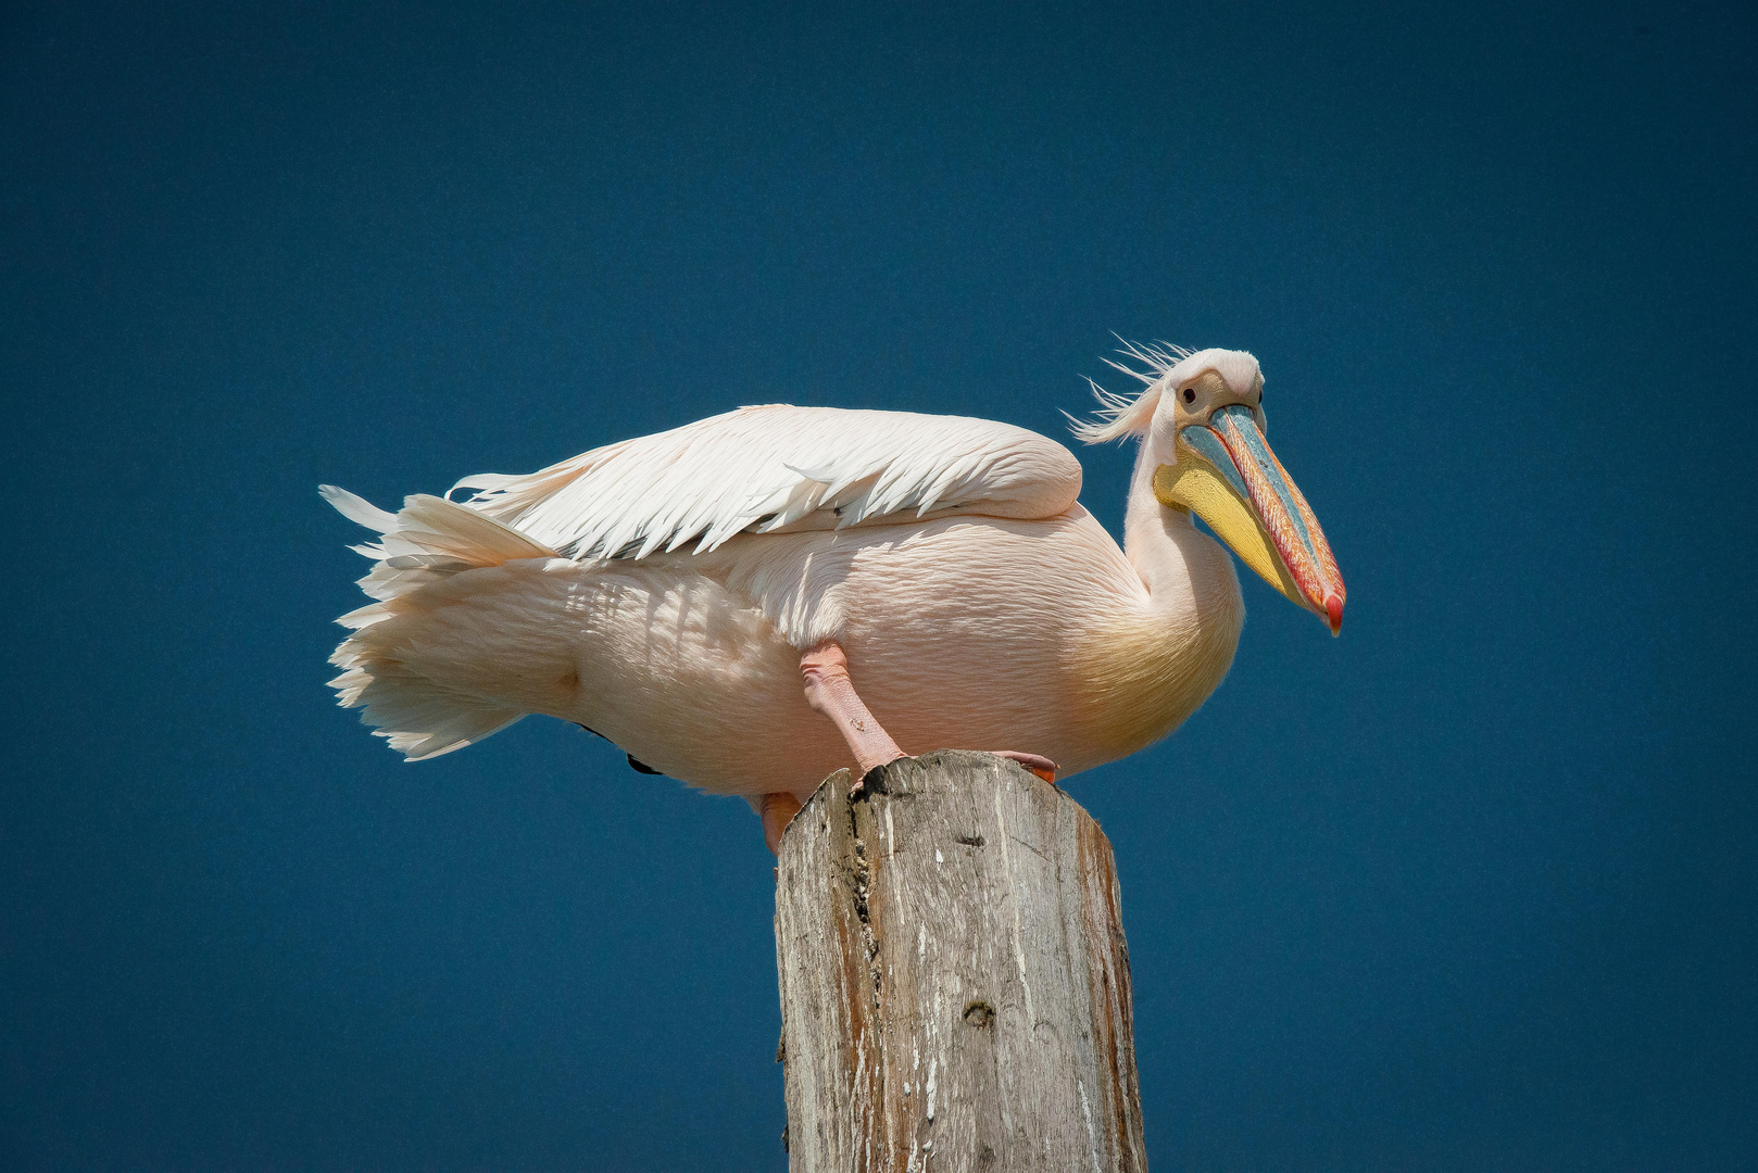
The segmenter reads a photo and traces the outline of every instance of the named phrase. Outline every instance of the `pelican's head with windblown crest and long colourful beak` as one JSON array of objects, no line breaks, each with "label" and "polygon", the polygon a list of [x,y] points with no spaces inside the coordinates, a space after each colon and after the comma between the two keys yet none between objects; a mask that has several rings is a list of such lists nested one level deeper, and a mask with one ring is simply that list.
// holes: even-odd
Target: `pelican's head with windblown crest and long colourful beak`
[{"label": "pelican's head with windblown crest and long colourful beak", "polygon": [[[1120,369],[1148,383],[1139,399],[1101,394],[1104,424],[1086,440],[1130,431],[1157,461],[1153,496],[1195,514],[1264,582],[1343,630],[1343,575],[1318,519],[1264,441],[1264,375],[1243,350],[1167,352],[1130,346],[1148,371]],[[1108,434],[1109,433],[1109,434]]]}]

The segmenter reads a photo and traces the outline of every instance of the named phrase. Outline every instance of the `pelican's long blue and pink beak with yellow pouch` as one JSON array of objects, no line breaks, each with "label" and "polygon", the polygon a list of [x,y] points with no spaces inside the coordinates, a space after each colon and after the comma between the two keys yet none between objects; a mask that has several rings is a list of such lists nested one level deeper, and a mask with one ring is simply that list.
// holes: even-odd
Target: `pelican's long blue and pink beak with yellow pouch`
[{"label": "pelican's long blue and pink beak with yellow pouch", "polygon": [[1153,473],[1162,505],[1194,512],[1264,582],[1343,630],[1343,575],[1306,498],[1264,443],[1250,408],[1229,404],[1178,433],[1178,463]]}]

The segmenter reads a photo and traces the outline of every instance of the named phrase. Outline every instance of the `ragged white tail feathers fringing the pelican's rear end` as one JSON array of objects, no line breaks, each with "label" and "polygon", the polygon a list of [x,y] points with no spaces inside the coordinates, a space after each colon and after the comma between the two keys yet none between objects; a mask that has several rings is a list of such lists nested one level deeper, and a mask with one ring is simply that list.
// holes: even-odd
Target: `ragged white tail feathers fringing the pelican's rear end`
[{"label": "ragged white tail feathers fringing the pelican's rear end", "polygon": [[338,619],[353,630],[331,656],[343,668],[331,681],[338,703],[364,709],[360,721],[408,761],[462,749],[526,716],[424,675],[399,654],[404,640],[376,638],[373,628],[385,619],[415,617],[424,587],[483,566],[557,557],[556,550],[443,498],[417,494],[390,514],[336,485],[318,491],[338,514],[380,533],[376,543],[353,547],[374,563],[360,589],[376,601]]}]

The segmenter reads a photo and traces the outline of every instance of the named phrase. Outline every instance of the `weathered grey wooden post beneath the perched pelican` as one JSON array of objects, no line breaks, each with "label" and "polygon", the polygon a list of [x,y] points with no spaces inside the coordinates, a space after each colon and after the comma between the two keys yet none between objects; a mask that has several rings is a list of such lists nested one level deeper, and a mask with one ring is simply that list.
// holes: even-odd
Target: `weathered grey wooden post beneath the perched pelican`
[{"label": "weathered grey wooden post beneath the perched pelican", "polygon": [[942,749],[781,841],[795,1173],[1146,1169],[1116,865],[1072,798]]}]

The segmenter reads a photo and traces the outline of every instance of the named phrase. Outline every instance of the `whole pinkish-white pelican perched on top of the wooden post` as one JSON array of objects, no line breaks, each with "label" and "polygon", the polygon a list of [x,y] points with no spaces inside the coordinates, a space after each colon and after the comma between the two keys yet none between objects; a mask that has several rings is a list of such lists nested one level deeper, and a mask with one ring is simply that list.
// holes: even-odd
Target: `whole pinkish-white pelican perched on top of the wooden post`
[{"label": "whole pinkish-white pelican perched on top of the wooden post", "polygon": [[951,415],[740,408],[399,514],[323,485],[383,535],[355,547],[376,601],[339,619],[331,684],[410,761],[529,712],[575,721],[636,769],[745,795],[770,848],[851,758],[1006,746],[1055,781],[1130,754],[1239,640],[1239,580],[1192,512],[1333,633],[1345,596],[1264,443],[1257,359],[1125,353],[1146,387],[1093,385],[1074,427],[1141,438],[1122,549],[1067,448]]}]

